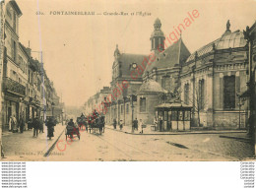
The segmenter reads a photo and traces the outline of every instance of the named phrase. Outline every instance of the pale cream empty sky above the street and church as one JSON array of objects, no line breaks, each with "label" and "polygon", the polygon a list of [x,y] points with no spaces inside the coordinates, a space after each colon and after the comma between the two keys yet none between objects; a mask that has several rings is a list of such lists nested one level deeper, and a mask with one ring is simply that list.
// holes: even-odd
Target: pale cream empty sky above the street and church
[{"label": "pale cream empty sky above the street and church", "polygon": [[[83,105],[102,87],[110,86],[116,44],[121,53],[150,54],[150,36],[157,18],[167,35],[183,23],[188,13],[199,12],[199,17],[182,32],[191,53],[221,37],[227,20],[231,31],[242,31],[256,20],[255,0],[19,0],[17,3],[23,12],[19,21],[20,41],[27,47],[30,41],[32,51],[42,50],[49,79],[65,104],[73,106]],[[53,15],[54,11],[101,15]],[[125,12],[128,16],[109,15],[115,12]],[[32,55],[39,59],[36,52]]]}]

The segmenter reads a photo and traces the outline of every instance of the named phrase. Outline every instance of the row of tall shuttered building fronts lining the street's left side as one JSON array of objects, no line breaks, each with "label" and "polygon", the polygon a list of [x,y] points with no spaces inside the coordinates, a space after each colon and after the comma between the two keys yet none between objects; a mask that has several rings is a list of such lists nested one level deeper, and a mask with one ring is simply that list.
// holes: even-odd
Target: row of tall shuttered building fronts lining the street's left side
[{"label": "row of tall shuttered building fronts lining the street's left side", "polygon": [[[2,3],[2,2],[1,2]],[[4,48],[2,74],[2,129],[8,131],[11,116],[21,115],[26,123],[35,116],[55,116],[60,120],[63,104],[49,80],[42,62],[32,58],[32,49],[19,40],[22,11],[15,0],[4,4]],[[55,105],[55,113],[53,111]]]}]

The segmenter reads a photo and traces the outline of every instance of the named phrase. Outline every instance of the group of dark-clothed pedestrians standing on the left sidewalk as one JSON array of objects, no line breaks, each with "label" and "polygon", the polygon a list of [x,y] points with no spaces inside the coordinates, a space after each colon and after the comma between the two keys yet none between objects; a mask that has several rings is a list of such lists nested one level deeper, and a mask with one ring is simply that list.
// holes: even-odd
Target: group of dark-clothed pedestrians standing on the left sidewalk
[{"label": "group of dark-clothed pedestrians standing on the left sidewalk", "polygon": [[[56,125],[54,118],[49,117],[45,121],[45,125],[47,127],[47,137],[51,139],[51,137],[54,137],[53,132],[54,132],[54,126]],[[20,115],[19,120],[17,120],[15,115],[11,116],[9,119],[9,132],[18,133],[19,129],[20,129],[20,133],[23,133],[26,130],[31,131],[33,129],[33,137],[37,137],[38,132],[44,133],[43,120],[38,116],[34,117],[33,119],[30,118],[28,121],[28,128],[27,128],[24,115]]]}]

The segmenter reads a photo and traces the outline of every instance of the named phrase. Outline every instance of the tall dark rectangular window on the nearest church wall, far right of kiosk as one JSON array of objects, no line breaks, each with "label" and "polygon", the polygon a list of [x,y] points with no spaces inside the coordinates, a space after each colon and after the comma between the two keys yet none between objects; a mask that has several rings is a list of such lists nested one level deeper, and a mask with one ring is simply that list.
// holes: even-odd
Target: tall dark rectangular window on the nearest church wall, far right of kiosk
[{"label": "tall dark rectangular window on the nearest church wall, far right of kiosk", "polygon": [[224,108],[235,108],[235,77],[224,77]]}]

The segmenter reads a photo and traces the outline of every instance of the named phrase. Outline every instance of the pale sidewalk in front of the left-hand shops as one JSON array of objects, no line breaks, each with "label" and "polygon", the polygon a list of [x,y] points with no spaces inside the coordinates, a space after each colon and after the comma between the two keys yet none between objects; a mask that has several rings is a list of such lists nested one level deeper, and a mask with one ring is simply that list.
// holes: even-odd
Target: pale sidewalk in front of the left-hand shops
[{"label": "pale sidewalk in front of the left-hand shops", "polygon": [[[3,151],[6,160],[37,160],[42,158],[57,142],[59,136],[64,132],[66,126],[57,124],[54,127],[54,137],[47,138],[47,127],[44,133],[38,133],[36,138],[33,130],[21,133],[4,132],[2,134]],[[37,158],[37,159],[36,159]]]}]

